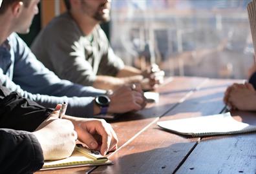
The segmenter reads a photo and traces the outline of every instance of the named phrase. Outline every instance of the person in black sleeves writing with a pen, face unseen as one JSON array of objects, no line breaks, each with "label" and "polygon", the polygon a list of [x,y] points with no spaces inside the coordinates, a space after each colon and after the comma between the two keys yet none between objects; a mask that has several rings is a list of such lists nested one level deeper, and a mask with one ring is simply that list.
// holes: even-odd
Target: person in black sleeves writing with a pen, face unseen
[{"label": "person in black sleeves writing with a pen, face unseen", "polygon": [[[1,0],[0,0],[1,1]],[[76,139],[102,155],[117,148],[110,124],[101,119],[83,119],[39,106],[0,86],[0,173],[32,173],[44,160],[69,157]],[[95,139],[100,135],[101,139]]]}]

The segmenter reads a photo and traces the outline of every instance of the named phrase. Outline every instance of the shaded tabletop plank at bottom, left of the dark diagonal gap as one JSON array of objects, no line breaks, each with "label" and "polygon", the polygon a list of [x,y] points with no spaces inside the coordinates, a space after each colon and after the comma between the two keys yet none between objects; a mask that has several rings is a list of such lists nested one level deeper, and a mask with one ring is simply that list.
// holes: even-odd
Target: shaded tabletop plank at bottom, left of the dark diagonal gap
[{"label": "shaded tabletop plank at bottom, left of the dark diagonal gap", "polygon": [[115,159],[112,166],[99,167],[96,173],[173,173],[195,144],[197,142],[176,143],[124,155]]}]

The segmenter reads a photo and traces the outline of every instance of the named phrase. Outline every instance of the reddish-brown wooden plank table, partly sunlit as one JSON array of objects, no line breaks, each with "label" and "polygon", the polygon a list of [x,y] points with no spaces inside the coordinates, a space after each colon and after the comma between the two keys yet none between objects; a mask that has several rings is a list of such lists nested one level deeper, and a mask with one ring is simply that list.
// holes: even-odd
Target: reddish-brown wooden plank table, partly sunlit
[{"label": "reddish-brown wooden plank table, partly sunlit", "polygon": [[[111,122],[119,139],[109,155],[111,166],[81,167],[37,173],[254,173],[256,133],[207,138],[164,131],[157,121],[212,115],[224,111],[228,79],[173,77],[158,88],[160,101]],[[256,125],[256,113],[233,112],[235,119]]]}]

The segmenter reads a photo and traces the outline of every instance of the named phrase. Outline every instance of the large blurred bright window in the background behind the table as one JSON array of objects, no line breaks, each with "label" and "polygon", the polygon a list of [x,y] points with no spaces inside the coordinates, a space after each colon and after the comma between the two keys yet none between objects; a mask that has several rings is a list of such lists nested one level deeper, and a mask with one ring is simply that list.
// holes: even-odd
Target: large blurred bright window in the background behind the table
[{"label": "large blurred bright window in the background behind the table", "polygon": [[247,78],[250,0],[112,0],[111,45],[126,64],[166,75]]}]

